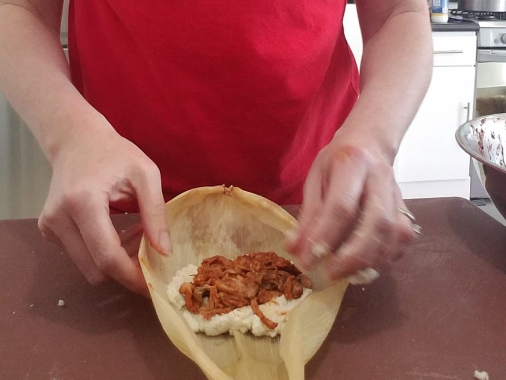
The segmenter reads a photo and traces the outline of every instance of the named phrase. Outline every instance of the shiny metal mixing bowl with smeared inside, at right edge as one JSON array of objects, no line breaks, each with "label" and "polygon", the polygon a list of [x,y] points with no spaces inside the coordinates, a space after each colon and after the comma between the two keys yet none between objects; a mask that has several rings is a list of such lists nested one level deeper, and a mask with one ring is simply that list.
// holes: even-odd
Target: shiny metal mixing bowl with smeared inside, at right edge
[{"label": "shiny metal mixing bowl with smeared inside, at right edge", "polygon": [[506,113],[488,115],[459,126],[458,145],[477,159],[482,181],[499,213],[506,218]]}]

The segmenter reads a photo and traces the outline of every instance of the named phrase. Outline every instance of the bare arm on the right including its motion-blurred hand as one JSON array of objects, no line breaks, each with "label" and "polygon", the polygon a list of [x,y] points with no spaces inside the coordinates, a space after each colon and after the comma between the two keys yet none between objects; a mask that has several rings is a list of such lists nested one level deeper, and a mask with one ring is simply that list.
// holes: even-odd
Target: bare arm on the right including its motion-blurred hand
[{"label": "bare arm on the right including its motion-blurred hand", "polygon": [[318,155],[288,249],[336,279],[402,254],[416,226],[392,164],[432,72],[425,0],[357,0],[364,41],[361,95]]}]

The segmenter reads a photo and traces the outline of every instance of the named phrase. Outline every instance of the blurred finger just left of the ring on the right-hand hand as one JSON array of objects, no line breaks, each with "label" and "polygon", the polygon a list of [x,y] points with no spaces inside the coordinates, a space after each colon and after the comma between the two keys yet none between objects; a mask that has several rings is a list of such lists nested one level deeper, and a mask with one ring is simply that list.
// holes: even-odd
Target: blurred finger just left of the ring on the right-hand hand
[{"label": "blurred finger just left of the ring on the right-hand hand", "polygon": [[[396,218],[389,165],[377,169],[365,185],[363,215],[355,232],[327,260],[327,273],[339,279],[368,267],[381,267],[392,254]],[[395,242],[394,242],[395,243]]]}]

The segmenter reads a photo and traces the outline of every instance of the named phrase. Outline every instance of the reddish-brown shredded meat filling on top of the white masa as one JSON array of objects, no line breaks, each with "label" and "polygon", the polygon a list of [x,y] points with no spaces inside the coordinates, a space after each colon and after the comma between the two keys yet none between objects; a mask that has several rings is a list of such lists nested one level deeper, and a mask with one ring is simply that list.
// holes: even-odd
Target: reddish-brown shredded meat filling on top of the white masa
[{"label": "reddish-brown shredded meat filling on top of the white masa", "polygon": [[186,309],[209,320],[243,306],[251,306],[270,329],[277,323],[267,318],[259,305],[284,295],[287,300],[301,298],[304,287],[312,289],[308,276],[274,252],[256,252],[237,257],[205,259],[192,282],[184,282],[179,292]]}]

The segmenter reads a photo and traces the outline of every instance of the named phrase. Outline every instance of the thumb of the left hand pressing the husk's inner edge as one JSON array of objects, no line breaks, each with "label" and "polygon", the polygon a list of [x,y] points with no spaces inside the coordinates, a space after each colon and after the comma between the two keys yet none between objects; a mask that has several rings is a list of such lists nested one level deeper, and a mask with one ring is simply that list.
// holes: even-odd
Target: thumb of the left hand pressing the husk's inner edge
[{"label": "thumb of the left hand pressing the husk's inner edge", "polygon": [[158,167],[152,165],[147,173],[134,173],[132,186],[139,202],[144,232],[151,245],[160,254],[170,255],[172,244],[165,219],[165,201]]}]

